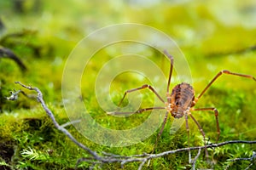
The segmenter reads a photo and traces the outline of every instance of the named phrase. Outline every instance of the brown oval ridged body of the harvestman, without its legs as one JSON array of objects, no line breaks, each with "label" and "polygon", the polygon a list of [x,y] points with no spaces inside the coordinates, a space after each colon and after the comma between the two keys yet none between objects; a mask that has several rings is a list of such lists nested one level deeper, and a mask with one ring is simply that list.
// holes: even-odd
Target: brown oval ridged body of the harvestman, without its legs
[{"label": "brown oval ridged body of the harvestman, without its legs", "polygon": [[189,83],[182,82],[177,84],[172,89],[171,104],[172,104],[172,116],[180,118],[184,115],[184,111],[187,111],[193,106],[193,100],[195,99],[194,88]]}]

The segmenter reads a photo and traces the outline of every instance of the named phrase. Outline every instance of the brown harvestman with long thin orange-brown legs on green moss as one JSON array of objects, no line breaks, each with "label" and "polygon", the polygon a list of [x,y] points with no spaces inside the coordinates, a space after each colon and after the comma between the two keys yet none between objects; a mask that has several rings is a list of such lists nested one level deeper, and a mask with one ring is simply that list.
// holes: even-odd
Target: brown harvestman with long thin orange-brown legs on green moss
[{"label": "brown harvestman with long thin orange-brown legs on green moss", "polygon": [[[144,84],[142,87],[140,88],[133,88],[130,90],[125,91],[124,97],[120,100],[119,105],[122,104],[123,100],[125,99],[126,94],[129,94],[131,92],[137,91],[137,90],[142,90],[144,88],[148,88],[149,90],[151,90],[166,106],[165,107],[148,107],[148,108],[144,108],[138,111],[133,111],[133,112],[118,112],[118,111],[113,111],[113,112],[108,112],[108,114],[110,115],[120,115],[120,114],[132,114],[132,113],[143,113],[143,111],[152,111],[152,110],[166,110],[166,116],[164,118],[164,121],[162,123],[162,126],[160,128],[160,132],[158,133],[157,139],[155,141],[154,144],[154,150],[155,147],[157,145],[158,140],[160,139],[160,135],[163,133],[164,127],[166,125],[166,120],[168,117],[168,114],[170,113],[174,118],[181,118],[181,117],[185,117],[185,121],[186,121],[186,129],[187,129],[187,133],[188,133],[188,144],[189,144],[189,123],[188,123],[188,116],[190,116],[193,121],[195,122],[195,124],[197,125],[197,127],[200,129],[201,131],[201,135],[203,136],[204,139],[204,143],[206,145],[206,135],[201,127],[201,125],[199,124],[199,122],[197,122],[195,120],[195,117],[192,116],[190,111],[214,111],[215,113],[215,119],[216,119],[216,125],[217,125],[217,133],[218,133],[218,137],[217,137],[217,142],[218,142],[218,138],[220,135],[220,130],[219,130],[219,125],[218,125],[218,110],[215,107],[207,107],[207,108],[193,108],[195,106],[195,104],[197,103],[198,99],[201,98],[201,96],[203,94],[205,94],[205,92],[207,91],[207,89],[212,85],[213,82],[215,82],[217,80],[218,77],[220,77],[223,74],[228,74],[228,75],[234,75],[234,76],[238,76],[238,77],[246,77],[246,78],[251,78],[254,81],[256,81],[256,78],[250,75],[244,75],[244,74],[239,74],[239,73],[235,73],[235,72],[230,72],[230,71],[219,71],[218,74],[213,77],[212,81],[208,83],[207,87],[204,88],[201,92],[201,94],[198,95],[198,97],[195,98],[195,91],[194,88],[192,88],[192,86],[189,85],[189,83],[186,82],[182,82],[180,84],[177,84],[174,88],[172,88],[172,94],[170,94],[169,92],[169,88],[170,88],[170,83],[171,83],[171,78],[172,78],[172,68],[173,68],[173,57],[172,55],[168,54],[166,51],[164,52],[166,54],[166,56],[171,60],[171,68],[170,68],[170,72],[169,72],[169,78],[168,78],[168,82],[167,82],[167,91],[166,91],[166,102],[164,99],[162,99],[160,97],[160,94],[158,94],[153,87],[151,87],[148,84]],[[154,152],[153,150],[153,152]],[[207,153],[207,150],[206,150]]]}]

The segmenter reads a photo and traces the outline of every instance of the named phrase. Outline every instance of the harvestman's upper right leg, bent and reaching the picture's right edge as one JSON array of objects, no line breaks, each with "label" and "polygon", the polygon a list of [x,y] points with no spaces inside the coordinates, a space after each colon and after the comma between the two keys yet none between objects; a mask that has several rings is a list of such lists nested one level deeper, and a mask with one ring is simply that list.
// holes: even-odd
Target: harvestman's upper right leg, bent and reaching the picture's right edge
[{"label": "harvestman's upper right leg, bent and reaching the picture's right edge", "polygon": [[[229,74],[229,75],[234,75],[234,76],[238,76],[238,77],[246,77],[246,78],[251,78],[254,81],[256,81],[256,78],[250,75],[244,75],[244,74],[239,74],[239,73],[235,73],[235,72],[230,72],[230,71],[219,71],[218,74],[212,79],[211,82],[209,82],[209,84],[207,85],[207,87],[205,89],[203,89],[203,91],[201,92],[201,94],[198,95],[196,101],[198,99],[201,98],[201,96],[207,91],[207,89],[212,85],[213,82],[215,82],[217,80],[218,77],[220,77],[222,74]],[[195,101],[195,102],[196,102]]]}]

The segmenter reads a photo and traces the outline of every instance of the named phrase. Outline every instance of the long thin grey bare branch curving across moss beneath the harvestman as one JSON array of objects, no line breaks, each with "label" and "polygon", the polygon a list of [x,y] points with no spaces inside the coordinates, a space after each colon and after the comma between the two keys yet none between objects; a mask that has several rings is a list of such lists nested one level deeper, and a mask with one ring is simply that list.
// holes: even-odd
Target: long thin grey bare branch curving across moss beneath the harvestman
[{"label": "long thin grey bare branch curving across moss beneath the harvestman", "polygon": [[[43,99],[43,94],[41,93],[41,91],[38,88],[32,88],[32,87],[26,86],[20,82],[15,82],[15,83],[20,84],[20,86],[22,86],[23,88],[27,88],[29,90],[36,91],[38,93],[38,97],[37,97],[38,102],[43,106],[44,111],[48,114],[49,118],[52,120],[55,127],[58,130],[60,130],[62,133],[64,133],[69,139],[71,139],[74,144],[77,144],[80,148],[82,148],[83,150],[86,150],[90,154],[89,157],[80,158],[79,161],[77,161],[77,167],[79,166],[79,163],[82,161],[90,162],[92,164],[92,167],[95,167],[96,164],[102,165],[104,163],[113,163],[113,162],[119,162],[121,167],[123,167],[125,165],[125,163],[138,161],[138,162],[140,162],[138,169],[142,169],[145,162],[150,161],[154,158],[158,158],[158,157],[166,156],[166,155],[170,155],[170,154],[176,154],[178,152],[183,152],[183,151],[198,150],[198,154],[197,154],[197,156],[195,156],[195,159],[193,161],[193,167],[195,168],[195,161],[200,156],[202,149],[217,148],[220,146],[224,146],[226,144],[256,144],[256,140],[253,140],[253,141],[230,140],[230,141],[225,141],[225,142],[218,143],[218,144],[207,144],[207,145],[203,145],[203,146],[181,148],[181,149],[177,149],[177,150],[168,150],[165,152],[161,152],[159,154],[143,153],[141,155],[120,156],[120,155],[114,155],[111,153],[102,152],[101,153],[102,156],[101,156],[98,153],[96,153],[95,151],[90,150],[90,148],[86,147],[84,144],[79,143],[79,141],[77,139],[75,139],[73,137],[73,135],[67,131],[67,129],[64,128],[65,126],[60,126],[59,123],[55,121],[55,116],[53,115],[53,113],[49,110],[49,108],[45,104],[44,99]],[[254,159],[254,157],[255,156],[253,155],[253,157],[250,159]]]}]

